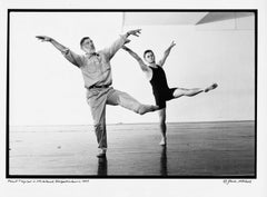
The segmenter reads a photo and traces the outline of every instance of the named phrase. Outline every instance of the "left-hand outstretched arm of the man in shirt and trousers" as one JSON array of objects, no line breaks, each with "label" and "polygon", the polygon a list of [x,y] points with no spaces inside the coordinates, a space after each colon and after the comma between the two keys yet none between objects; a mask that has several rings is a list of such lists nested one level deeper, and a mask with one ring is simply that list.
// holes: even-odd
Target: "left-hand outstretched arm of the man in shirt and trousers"
[{"label": "left-hand outstretched arm of the man in shirt and trousers", "polygon": [[36,38],[41,40],[41,41],[47,41],[47,42],[52,43],[52,46],[56,49],[58,49],[60,52],[62,52],[65,58],[68,59],[75,66],[80,67],[80,65],[82,63],[82,58],[79,55],[75,53],[69,48],[67,48],[63,45],[59,43],[57,40],[55,40],[55,39],[52,39],[50,37],[47,37],[47,36],[37,36]]}]

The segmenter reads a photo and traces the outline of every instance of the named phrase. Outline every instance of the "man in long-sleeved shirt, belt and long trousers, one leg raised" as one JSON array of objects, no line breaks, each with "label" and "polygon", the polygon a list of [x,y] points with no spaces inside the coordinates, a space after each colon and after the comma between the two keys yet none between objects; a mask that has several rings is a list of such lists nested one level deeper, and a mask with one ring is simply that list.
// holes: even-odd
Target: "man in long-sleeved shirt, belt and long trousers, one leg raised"
[{"label": "man in long-sleeved shirt, belt and long trousers, one leg raised", "polygon": [[80,47],[86,55],[77,55],[50,37],[37,36],[37,38],[41,41],[52,43],[53,47],[62,52],[66,59],[77,66],[82,72],[85,87],[87,89],[87,101],[91,108],[98,141],[99,154],[97,157],[105,157],[108,147],[106,131],[106,105],[119,105],[139,115],[158,109],[157,106],[142,105],[128,93],[116,90],[111,87],[111,58],[125,43],[130,41],[127,39],[129,36],[138,37],[140,29],[130,30],[126,35],[120,36],[113,45],[103,50],[99,50],[98,52],[96,52],[92,40],[89,37],[85,37],[80,41]]}]

